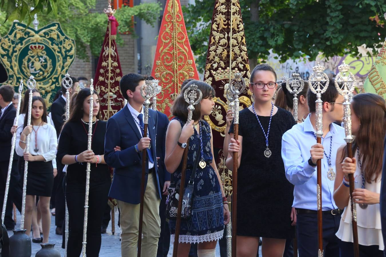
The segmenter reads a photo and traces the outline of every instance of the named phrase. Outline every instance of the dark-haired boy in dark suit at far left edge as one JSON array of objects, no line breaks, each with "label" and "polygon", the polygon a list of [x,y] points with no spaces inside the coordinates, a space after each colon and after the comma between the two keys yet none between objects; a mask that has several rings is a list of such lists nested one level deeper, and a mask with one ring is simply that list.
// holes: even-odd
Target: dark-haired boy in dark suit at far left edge
[{"label": "dark-haired boy in dark suit at far left edge", "polygon": [[[5,183],[7,182],[9,158],[11,155],[11,128],[16,117],[16,108],[12,104],[14,93],[15,91],[11,86],[3,85],[0,87],[0,210],[3,209]],[[7,207],[3,220],[7,230],[15,227],[15,222],[12,220],[12,202],[21,210],[22,191],[19,186],[20,175],[17,169],[17,160],[17,155],[14,154]]]}]

